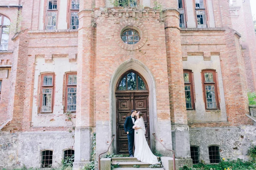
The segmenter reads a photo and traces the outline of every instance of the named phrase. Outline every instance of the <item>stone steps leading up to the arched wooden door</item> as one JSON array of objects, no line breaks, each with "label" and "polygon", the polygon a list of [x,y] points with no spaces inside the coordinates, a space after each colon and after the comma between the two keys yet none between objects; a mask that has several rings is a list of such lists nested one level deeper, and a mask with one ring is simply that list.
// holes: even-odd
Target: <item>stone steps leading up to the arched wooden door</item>
[{"label": "stone steps leading up to the arched wooden door", "polygon": [[[159,157],[157,157],[159,161]],[[112,158],[111,165],[117,165],[119,164],[119,167],[116,167],[114,170],[164,170],[162,164],[158,162],[161,167],[160,168],[149,168],[151,164],[145,164],[141,161],[138,161],[136,158],[130,158],[130,157],[117,157]],[[134,167],[134,165],[140,166]]]}]

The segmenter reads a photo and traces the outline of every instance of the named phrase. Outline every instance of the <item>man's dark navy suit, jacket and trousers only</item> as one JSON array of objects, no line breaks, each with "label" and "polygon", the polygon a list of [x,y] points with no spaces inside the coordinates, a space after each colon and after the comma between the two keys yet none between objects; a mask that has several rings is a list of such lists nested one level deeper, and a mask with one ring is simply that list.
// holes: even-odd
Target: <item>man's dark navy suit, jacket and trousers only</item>
[{"label": "man's dark navy suit, jacket and trousers only", "polygon": [[[134,118],[134,122],[135,122]],[[124,129],[125,133],[129,132],[127,135],[128,138],[128,150],[129,150],[129,155],[131,156],[133,154],[133,145],[134,145],[134,129],[132,128],[134,123],[132,122],[131,116],[126,117],[125,119],[125,124],[124,124]]]}]

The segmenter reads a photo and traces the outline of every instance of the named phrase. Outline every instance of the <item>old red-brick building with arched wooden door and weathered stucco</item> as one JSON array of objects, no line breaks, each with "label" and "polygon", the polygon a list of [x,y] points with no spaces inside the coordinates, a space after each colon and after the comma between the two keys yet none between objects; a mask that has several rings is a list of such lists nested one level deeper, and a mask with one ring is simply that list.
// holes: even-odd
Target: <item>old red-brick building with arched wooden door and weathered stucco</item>
[{"label": "old red-brick building with arched wooden door and weathered stucco", "polygon": [[177,159],[247,159],[256,144],[249,0],[114,2],[0,0],[0,168],[56,167],[74,154],[79,169],[94,132],[96,155],[112,135],[111,153],[125,154],[133,108],[164,156],[152,133]]}]

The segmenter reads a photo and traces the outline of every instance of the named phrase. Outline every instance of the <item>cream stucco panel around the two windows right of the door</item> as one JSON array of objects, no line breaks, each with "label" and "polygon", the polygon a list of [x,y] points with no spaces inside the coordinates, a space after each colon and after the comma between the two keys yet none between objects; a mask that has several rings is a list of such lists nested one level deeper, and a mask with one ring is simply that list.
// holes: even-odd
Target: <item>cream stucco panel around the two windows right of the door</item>
[{"label": "cream stucco panel around the two windows right of the door", "polygon": [[[192,70],[195,83],[195,110],[187,111],[188,122],[220,122],[227,121],[224,88],[221,73],[220,57],[211,56],[211,60],[204,60],[204,56],[189,56],[183,61],[183,68]],[[219,91],[220,110],[209,111],[205,109],[204,92],[202,85],[201,71],[204,69],[216,70],[217,90]]]}]

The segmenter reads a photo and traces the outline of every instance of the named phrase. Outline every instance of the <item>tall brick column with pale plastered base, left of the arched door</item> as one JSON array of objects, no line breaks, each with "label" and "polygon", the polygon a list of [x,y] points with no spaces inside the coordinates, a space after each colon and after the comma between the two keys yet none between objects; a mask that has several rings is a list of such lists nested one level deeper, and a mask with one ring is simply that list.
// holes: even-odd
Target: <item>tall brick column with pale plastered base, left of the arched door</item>
[{"label": "tall brick column with pale plastered base, left of the arched door", "polygon": [[94,39],[93,0],[80,0],[78,34],[77,105],[74,169],[80,170],[91,159],[94,131]]}]

